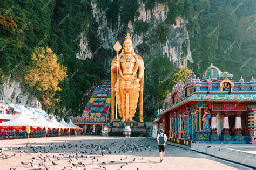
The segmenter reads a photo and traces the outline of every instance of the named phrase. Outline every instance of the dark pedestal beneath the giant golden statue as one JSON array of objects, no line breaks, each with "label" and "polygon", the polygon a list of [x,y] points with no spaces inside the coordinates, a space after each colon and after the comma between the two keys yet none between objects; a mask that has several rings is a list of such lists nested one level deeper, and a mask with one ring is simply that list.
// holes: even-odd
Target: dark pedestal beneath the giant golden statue
[{"label": "dark pedestal beneath the giant golden statue", "polygon": [[110,136],[123,136],[125,126],[130,126],[132,130],[131,136],[144,136],[146,134],[146,126],[144,122],[120,121],[113,119]]}]

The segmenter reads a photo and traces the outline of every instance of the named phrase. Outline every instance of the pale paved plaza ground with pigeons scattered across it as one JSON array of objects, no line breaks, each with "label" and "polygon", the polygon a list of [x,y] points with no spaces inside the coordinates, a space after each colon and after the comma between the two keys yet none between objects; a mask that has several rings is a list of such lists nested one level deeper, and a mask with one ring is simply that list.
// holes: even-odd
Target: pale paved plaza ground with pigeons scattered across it
[{"label": "pale paved plaza ground with pigeons scattered across it", "polygon": [[[31,163],[34,166],[43,163],[48,169],[63,169],[64,167],[66,169],[104,169],[103,167],[106,169],[250,169],[171,145],[166,146],[165,161],[160,163],[159,152],[154,148],[157,146],[156,141],[146,137],[48,137],[31,138],[29,141],[30,144],[26,146],[27,139],[0,140],[1,147],[9,148],[8,151],[3,151],[3,157],[6,158],[6,155],[10,157],[0,159],[0,169],[10,169],[11,167],[34,169],[31,167]],[[31,144],[32,142],[35,143]],[[38,151],[39,153],[35,153]],[[47,151],[49,152],[45,153]],[[76,155],[76,152],[79,151],[84,153]],[[115,151],[116,153],[114,153]],[[119,151],[120,153],[118,153]],[[86,155],[88,155],[87,158]],[[125,159],[126,156],[127,159]],[[33,157],[34,161],[32,161]],[[112,160],[115,162],[111,163]],[[22,165],[21,161],[28,165]],[[58,165],[53,165],[52,161]],[[85,165],[79,165],[79,162]],[[39,167],[45,169],[44,165]]]}]

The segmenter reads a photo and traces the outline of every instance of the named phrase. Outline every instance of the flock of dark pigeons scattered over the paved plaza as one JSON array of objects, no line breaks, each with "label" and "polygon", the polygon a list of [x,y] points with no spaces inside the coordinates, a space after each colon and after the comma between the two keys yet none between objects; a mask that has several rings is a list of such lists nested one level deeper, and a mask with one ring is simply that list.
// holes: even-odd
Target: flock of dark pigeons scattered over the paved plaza
[{"label": "flock of dark pigeons scattered over the paved plaza", "polygon": [[[17,147],[17,151],[13,152],[13,155],[7,155],[4,152],[6,150],[14,150],[12,148],[2,148],[0,154],[2,155],[2,159],[9,159],[11,157],[23,157],[24,154],[31,155],[31,153],[35,153],[33,156],[31,155],[30,161],[21,161],[21,166],[24,168],[48,170],[49,166],[51,166],[50,168],[52,169],[54,166],[59,165],[63,169],[86,169],[86,164],[98,164],[99,169],[107,169],[107,165],[118,163],[120,164],[119,169],[122,169],[124,167],[127,168],[129,164],[136,161],[136,158],[129,158],[131,157],[131,153],[157,149],[156,146],[144,143],[143,139],[130,140],[129,142],[124,138],[123,140],[124,143],[120,147],[117,146],[116,141],[105,143],[105,145],[88,144],[82,141],[79,141],[79,144],[71,144],[69,141],[65,141],[65,143],[62,144],[50,143],[48,146],[39,146],[35,142],[28,142],[25,146]],[[69,150],[72,150],[72,152],[70,151],[68,153]],[[50,155],[50,153],[52,154]],[[105,154],[119,153],[119,160],[106,161],[104,157]],[[127,155],[123,156],[124,153],[127,153]],[[124,158],[122,158],[122,156]],[[141,160],[142,159],[143,157]],[[59,160],[62,160],[62,162],[58,162]],[[67,161],[66,164],[63,164],[63,160]]]}]

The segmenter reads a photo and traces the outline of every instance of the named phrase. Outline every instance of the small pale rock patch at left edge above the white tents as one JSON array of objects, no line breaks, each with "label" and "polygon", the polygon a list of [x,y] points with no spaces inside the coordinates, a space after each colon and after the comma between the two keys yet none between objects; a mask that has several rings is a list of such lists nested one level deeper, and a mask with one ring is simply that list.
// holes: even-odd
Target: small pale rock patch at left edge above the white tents
[{"label": "small pale rock patch at left edge above the white tents", "polygon": [[21,86],[21,82],[8,77],[2,84],[3,100],[29,106],[33,100],[33,94]]}]

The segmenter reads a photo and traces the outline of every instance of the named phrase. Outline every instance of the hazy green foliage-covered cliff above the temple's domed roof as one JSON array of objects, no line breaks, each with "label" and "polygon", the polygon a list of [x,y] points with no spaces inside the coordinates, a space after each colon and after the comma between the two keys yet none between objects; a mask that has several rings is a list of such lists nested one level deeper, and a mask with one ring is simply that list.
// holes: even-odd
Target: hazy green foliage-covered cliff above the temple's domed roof
[{"label": "hazy green foliage-covered cliff above the temple's domed roof", "polygon": [[250,81],[255,75],[256,3],[248,1],[185,1],[194,63],[189,67],[197,76],[213,62],[238,81]]}]

